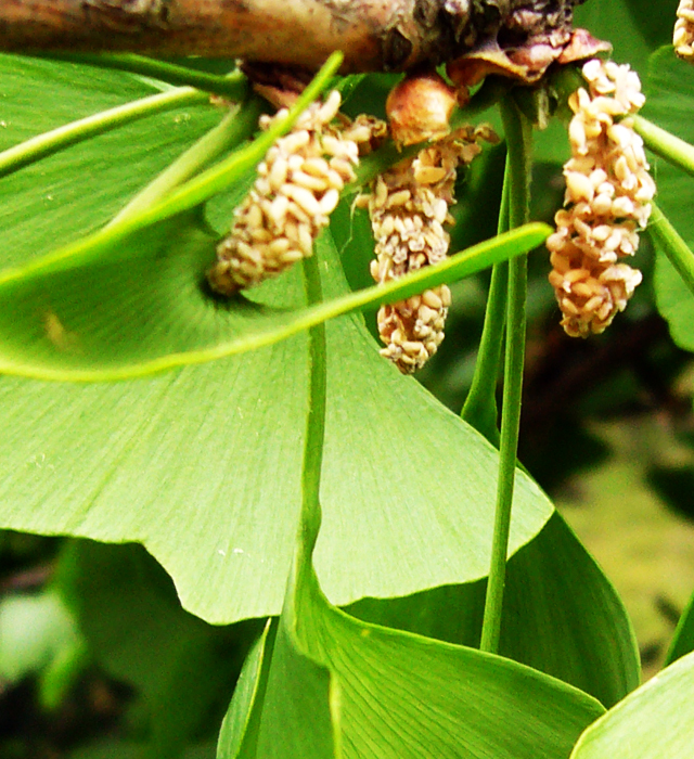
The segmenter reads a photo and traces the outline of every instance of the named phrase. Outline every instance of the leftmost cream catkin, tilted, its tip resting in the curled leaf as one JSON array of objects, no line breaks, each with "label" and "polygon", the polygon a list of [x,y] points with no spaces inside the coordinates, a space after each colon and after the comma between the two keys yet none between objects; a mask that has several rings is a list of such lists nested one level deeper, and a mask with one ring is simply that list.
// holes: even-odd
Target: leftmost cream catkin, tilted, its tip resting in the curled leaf
[{"label": "leftmost cream catkin, tilted, its tip resting in the curled leaf", "polygon": [[[313,103],[270,147],[253,189],[234,211],[231,232],[217,247],[217,263],[207,274],[213,290],[231,295],[312,255],[339,193],[355,179],[360,147],[367,152],[374,133],[385,132],[383,123],[369,117],[332,124],[339,104],[337,91],[324,103]],[[286,113],[262,116],[260,127],[267,129]]]}]

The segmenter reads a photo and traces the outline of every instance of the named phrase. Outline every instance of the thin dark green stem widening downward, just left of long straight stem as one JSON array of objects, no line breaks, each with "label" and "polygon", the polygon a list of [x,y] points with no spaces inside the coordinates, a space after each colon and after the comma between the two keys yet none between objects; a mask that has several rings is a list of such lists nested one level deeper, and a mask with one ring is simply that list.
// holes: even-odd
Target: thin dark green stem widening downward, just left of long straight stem
[{"label": "thin dark green stem widening downward, just left of long straight stem", "polygon": [[[510,167],[506,157],[501,210],[497,227],[499,234],[509,231],[509,192]],[[503,345],[503,330],[506,321],[507,272],[509,268],[505,261],[494,265],[491,270],[485,325],[479,342],[479,350],[477,351],[475,374],[461,412],[461,416],[465,422],[475,427],[496,447],[499,447],[497,377],[501,365],[501,346]]]}]

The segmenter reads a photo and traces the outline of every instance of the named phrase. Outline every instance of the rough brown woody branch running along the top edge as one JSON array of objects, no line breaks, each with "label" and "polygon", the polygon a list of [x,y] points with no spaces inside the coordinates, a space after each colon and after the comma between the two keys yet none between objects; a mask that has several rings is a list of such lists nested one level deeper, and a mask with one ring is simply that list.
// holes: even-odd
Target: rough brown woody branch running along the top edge
[{"label": "rough brown woody branch running along the top edge", "polygon": [[[583,0],[1,0],[0,50],[242,57],[344,73],[409,69],[523,25],[570,27]],[[527,36],[527,35],[526,35]]]}]

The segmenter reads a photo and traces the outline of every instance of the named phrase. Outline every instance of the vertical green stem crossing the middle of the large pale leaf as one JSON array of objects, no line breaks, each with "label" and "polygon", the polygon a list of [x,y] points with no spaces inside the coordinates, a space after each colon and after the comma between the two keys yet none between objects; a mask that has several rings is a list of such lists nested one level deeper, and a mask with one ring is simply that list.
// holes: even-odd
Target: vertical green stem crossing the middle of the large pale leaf
[{"label": "vertical green stem crossing the middle of the large pale leaf", "polygon": [[[323,300],[321,276],[316,256],[304,261],[304,283],[310,306]],[[327,355],[325,324],[321,322],[308,331],[309,339],[309,408],[301,473],[301,539],[305,556],[316,545],[321,526],[320,484],[325,436],[325,398],[327,384]]]}]

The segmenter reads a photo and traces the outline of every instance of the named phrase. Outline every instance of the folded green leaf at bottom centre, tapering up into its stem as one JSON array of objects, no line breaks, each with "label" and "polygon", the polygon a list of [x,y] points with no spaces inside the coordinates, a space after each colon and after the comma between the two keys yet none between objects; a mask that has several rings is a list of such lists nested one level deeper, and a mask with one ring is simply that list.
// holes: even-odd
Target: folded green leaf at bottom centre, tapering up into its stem
[{"label": "folded green leaf at bottom centre, tapering up into its stem", "polygon": [[301,556],[271,657],[256,750],[218,759],[565,759],[603,712],[509,659],[358,621]]}]

